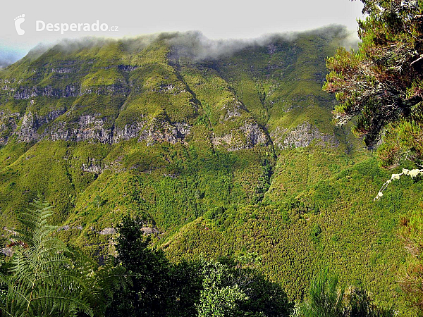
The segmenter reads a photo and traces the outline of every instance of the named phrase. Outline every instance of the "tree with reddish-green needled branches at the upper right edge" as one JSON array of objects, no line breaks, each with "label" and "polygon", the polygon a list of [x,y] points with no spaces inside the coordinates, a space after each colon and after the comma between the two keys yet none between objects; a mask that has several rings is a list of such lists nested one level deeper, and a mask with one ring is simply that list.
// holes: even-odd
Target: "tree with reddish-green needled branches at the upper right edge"
[{"label": "tree with reddish-green needled branches at the upper right edge", "polygon": [[333,110],[334,121],[344,125],[357,116],[353,130],[364,136],[369,147],[385,133],[379,151],[384,166],[395,166],[405,156],[419,160],[423,153],[423,1],[362,2],[367,17],[358,21],[362,40],[358,51],[339,48],[326,60],[330,73],[323,89],[341,102]]}]

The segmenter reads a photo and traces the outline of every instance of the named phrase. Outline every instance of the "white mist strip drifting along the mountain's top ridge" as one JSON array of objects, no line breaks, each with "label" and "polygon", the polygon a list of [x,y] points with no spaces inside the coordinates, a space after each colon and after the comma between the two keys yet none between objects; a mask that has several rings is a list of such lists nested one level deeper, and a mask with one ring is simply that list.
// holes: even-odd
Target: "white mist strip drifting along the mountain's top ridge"
[{"label": "white mist strip drifting along the mountain's top ridge", "polygon": [[[266,46],[275,42],[293,42],[300,36],[315,35],[325,39],[338,39],[339,45],[346,49],[357,48],[359,39],[357,32],[348,30],[343,25],[329,25],[317,30],[305,32],[286,32],[267,34],[253,39],[209,39],[199,31],[164,32],[139,37],[111,39],[105,37],[81,37],[79,39],[62,39],[59,42],[38,44],[28,53],[28,58],[34,59],[49,49],[73,54],[82,49],[92,49],[108,44],[121,44],[124,51],[137,54],[155,41],[165,42],[171,47],[170,58],[187,57],[195,61],[215,60],[231,56],[238,51],[252,46]],[[21,57],[21,56],[20,56]],[[0,54],[0,68],[4,68],[18,60],[19,57]]]}]

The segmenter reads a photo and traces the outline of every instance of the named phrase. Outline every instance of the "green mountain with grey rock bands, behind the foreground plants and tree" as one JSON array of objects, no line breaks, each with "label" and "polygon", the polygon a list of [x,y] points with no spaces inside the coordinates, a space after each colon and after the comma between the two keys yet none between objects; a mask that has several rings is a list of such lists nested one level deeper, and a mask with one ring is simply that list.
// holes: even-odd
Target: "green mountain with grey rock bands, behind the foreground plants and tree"
[{"label": "green mountain with grey rock bands, behind the foreground plants and tree", "polygon": [[400,216],[422,185],[373,201],[381,170],[331,125],[325,58],[343,27],[256,41],[197,32],[34,49],[0,71],[0,208],[8,234],[37,192],[57,235],[102,261],[122,216],[173,261],[242,251],[301,299],[330,266],[415,316],[396,284]]}]

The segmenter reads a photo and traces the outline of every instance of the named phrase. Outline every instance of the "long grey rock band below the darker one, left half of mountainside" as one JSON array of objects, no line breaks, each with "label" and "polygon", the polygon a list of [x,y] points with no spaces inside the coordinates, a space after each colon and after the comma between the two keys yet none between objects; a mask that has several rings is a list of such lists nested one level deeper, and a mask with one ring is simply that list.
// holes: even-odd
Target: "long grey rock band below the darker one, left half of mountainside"
[{"label": "long grey rock band below the darker one, left half of mountainside", "polygon": [[[38,116],[31,111],[25,113],[18,125],[19,113],[6,115],[0,113],[0,145],[8,142],[10,135],[16,135],[19,142],[37,142],[40,139],[52,141],[89,141],[98,143],[117,143],[137,138],[139,142],[146,140],[148,145],[157,142],[185,142],[190,133],[188,123],[170,123],[168,120],[153,119],[127,124],[123,127],[114,127],[111,118],[101,113],[85,114],[71,121],[54,121],[59,118],[65,109],[51,111],[47,116]],[[47,125],[48,123],[51,123]],[[47,126],[46,126],[47,125]],[[39,129],[44,126],[44,130]]]}]

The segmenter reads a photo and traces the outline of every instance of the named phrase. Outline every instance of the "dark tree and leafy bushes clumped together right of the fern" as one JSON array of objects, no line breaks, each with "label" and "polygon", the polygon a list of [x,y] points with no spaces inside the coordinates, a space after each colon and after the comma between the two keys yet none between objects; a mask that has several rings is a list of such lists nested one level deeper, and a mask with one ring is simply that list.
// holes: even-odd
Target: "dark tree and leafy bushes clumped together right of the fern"
[{"label": "dark tree and leafy bushes clumped together right of the fern", "polygon": [[130,272],[130,287],[115,290],[106,316],[289,315],[285,292],[255,271],[257,254],[172,264],[149,247],[141,229],[140,218],[118,225],[116,260]]}]

